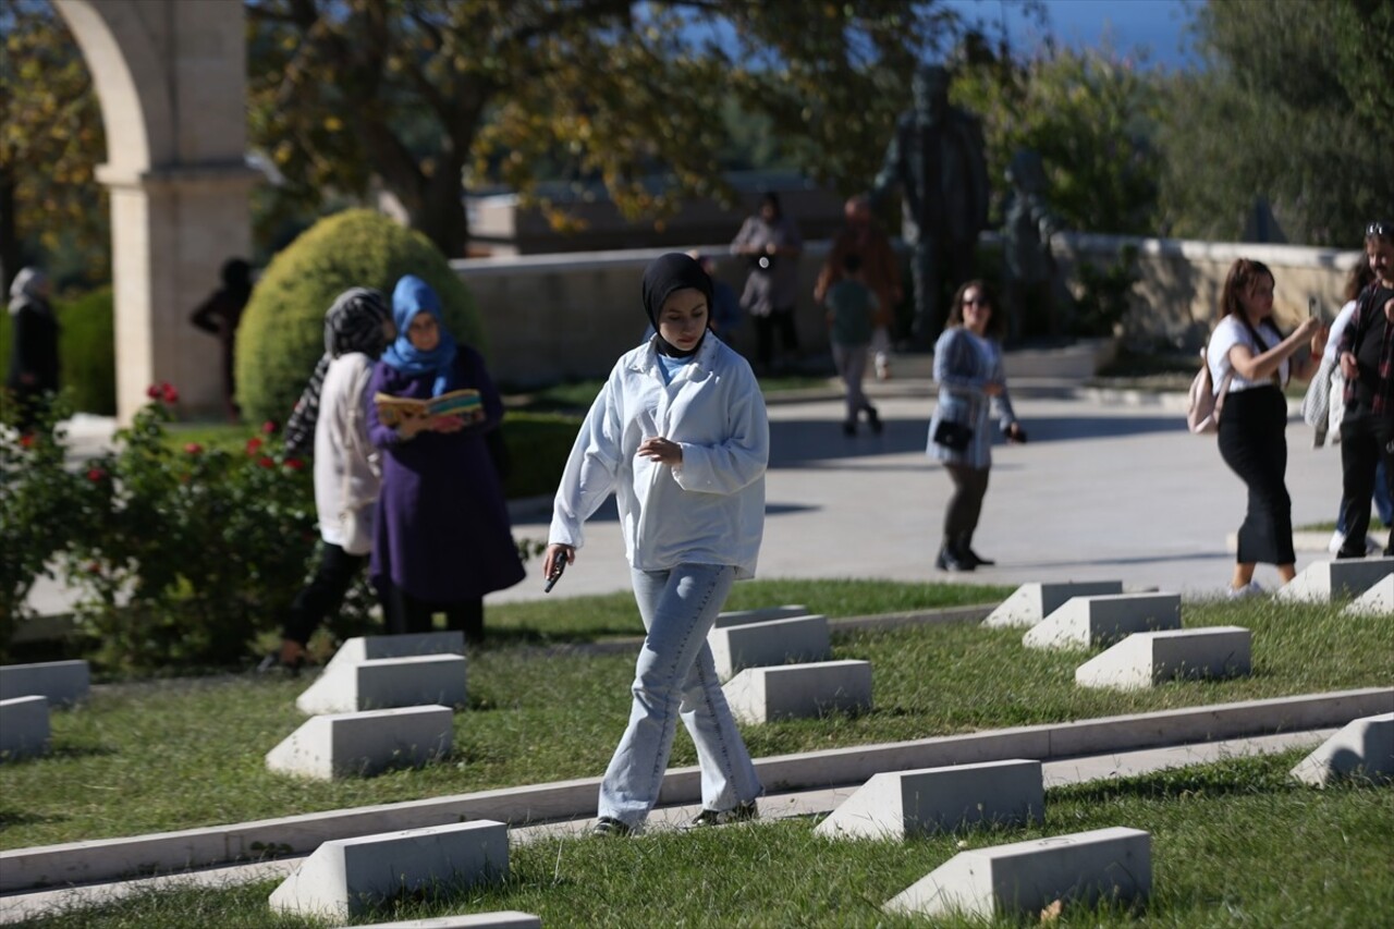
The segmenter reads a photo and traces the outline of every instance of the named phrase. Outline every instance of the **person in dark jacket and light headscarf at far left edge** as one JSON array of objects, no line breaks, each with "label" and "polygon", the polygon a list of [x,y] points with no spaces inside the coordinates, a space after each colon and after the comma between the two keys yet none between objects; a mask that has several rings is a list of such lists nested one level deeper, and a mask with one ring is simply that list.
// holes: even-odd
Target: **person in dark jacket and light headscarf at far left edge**
[{"label": "person in dark jacket and light headscarf at far left edge", "polygon": [[49,278],[22,268],[10,285],[10,374],[4,385],[20,407],[20,431],[29,432],[59,391],[59,321],[49,303]]}]

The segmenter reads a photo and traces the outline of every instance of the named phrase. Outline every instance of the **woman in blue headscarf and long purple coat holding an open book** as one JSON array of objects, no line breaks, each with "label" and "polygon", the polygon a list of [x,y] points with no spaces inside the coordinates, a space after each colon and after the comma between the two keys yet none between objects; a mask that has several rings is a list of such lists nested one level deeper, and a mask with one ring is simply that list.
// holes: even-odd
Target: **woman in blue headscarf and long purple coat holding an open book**
[{"label": "woman in blue headscarf and long purple coat holding an open book", "polygon": [[[524,573],[485,442],[503,418],[503,402],[480,353],[445,328],[427,282],[399,280],[392,317],[397,338],[374,370],[368,405],[368,434],[383,451],[372,577],[379,589],[390,583],[392,632],[429,632],[443,612],[449,629],[478,643],[484,594],[512,587]],[[445,407],[456,411],[429,406],[471,391],[477,400]]]}]

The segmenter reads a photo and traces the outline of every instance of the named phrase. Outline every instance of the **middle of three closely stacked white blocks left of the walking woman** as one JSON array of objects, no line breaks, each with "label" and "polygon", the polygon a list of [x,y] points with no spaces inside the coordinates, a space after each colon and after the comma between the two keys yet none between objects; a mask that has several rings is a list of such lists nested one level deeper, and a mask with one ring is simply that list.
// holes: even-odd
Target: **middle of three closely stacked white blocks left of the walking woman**
[{"label": "middle of three closely stacked white blocks left of the walking woman", "polygon": [[395,706],[459,706],[464,703],[464,658],[422,654],[340,664],[300,695],[302,713],[358,713]]}]

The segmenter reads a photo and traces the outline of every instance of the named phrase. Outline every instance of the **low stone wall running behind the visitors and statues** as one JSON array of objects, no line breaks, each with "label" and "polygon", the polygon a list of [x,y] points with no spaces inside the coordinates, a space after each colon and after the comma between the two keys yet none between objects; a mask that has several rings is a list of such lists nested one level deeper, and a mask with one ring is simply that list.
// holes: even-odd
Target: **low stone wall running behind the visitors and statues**
[{"label": "low stone wall running behind the visitors and statues", "polygon": [[[1124,236],[1062,233],[1054,241],[1059,272],[1071,286],[1080,262],[1112,264],[1126,246],[1138,248],[1142,279],[1133,287],[1125,335],[1197,346],[1210,329],[1225,272],[1235,258],[1255,258],[1273,269],[1282,325],[1306,314],[1309,297],[1320,301],[1327,318],[1334,315],[1345,275],[1359,258],[1354,251],[1328,248]],[[828,241],[806,243],[799,262],[796,324],[804,353],[825,352],[828,346],[822,310],[813,301],[813,283],[828,247]],[[997,236],[984,234],[984,250],[999,247]],[[717,258],[718,276],[740,293],[744,261],[730,255],[725,244],[700,248]],[[648,325],[640,278],[664,251],[669,250],[467,258],[452,266],[484,314],[495,378],[530,385],[602,377],[622,352],[638,345]],[[736,340],[743,349],[751,345],[749,321]]]}]

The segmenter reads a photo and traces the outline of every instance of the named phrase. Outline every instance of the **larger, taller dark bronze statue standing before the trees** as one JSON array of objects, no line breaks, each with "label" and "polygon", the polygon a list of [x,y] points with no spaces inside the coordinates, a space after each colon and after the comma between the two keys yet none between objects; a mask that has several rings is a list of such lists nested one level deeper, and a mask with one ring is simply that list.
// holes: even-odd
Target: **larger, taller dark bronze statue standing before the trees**
[{"label": "larger, taller dark bronze statue standing before the trees", "polygon": [[983,130],[949,105],[949,73],[921,66],[912,82],[914,107],[901,114],[870,198],[901,188],[901,236],[910,246],[914,319],[910,342],[927,349],[944,329],[944,292],[973,276],[973,250],[987,226]]}]

